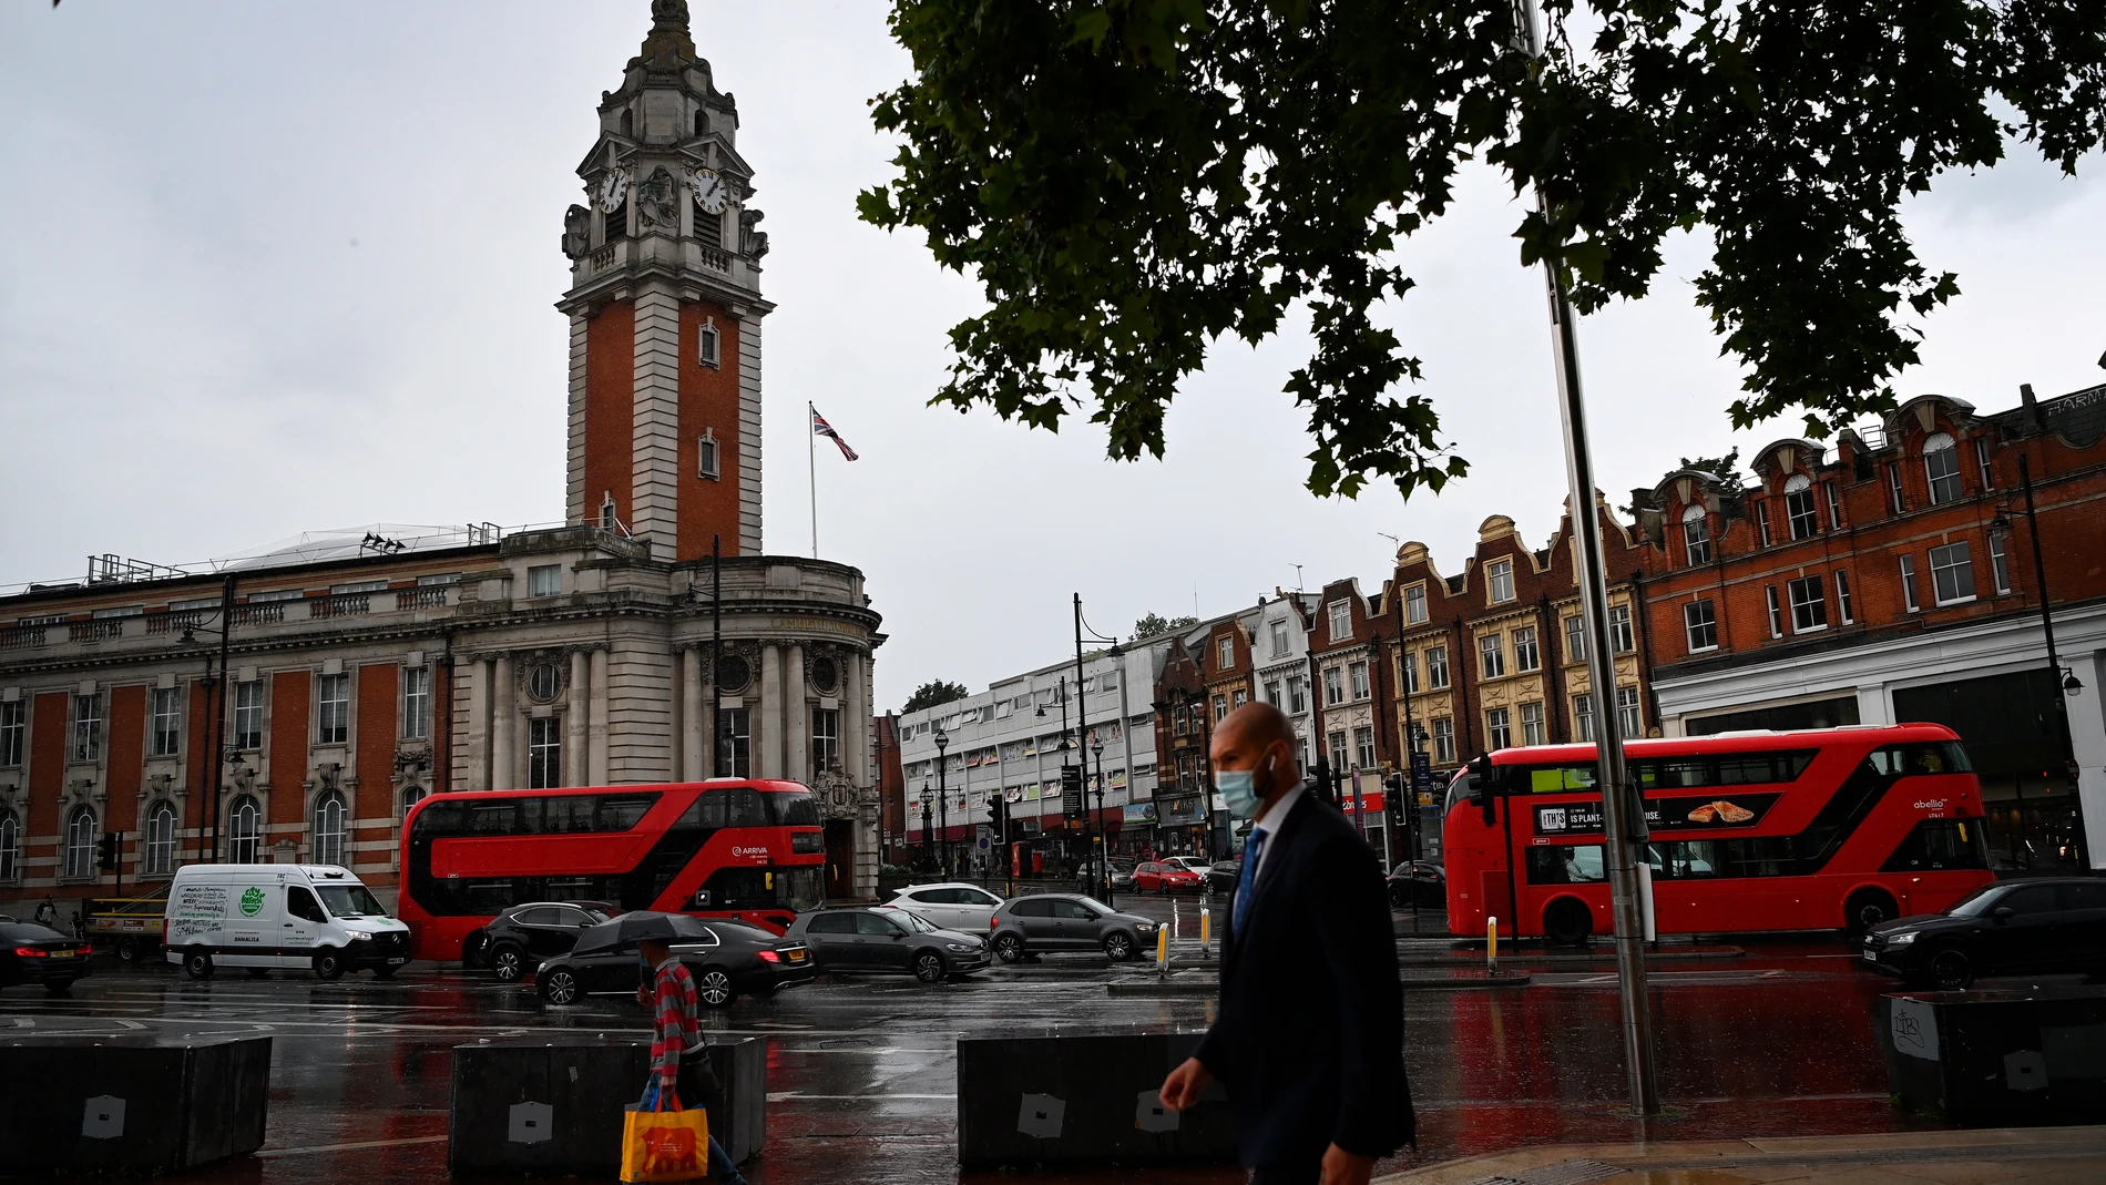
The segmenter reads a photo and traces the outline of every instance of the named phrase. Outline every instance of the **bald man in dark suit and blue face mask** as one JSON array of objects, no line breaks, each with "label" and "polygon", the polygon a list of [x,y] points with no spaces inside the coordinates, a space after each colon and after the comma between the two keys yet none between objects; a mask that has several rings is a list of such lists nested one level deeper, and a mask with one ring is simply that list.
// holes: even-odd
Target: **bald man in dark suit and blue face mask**
[{"label": "bald man in dark suit and blue face mask", "polygon": [[1302,791],[1278,707],[1238,707],[1211,756],[1224,804],[1253,825],[1221,1008],[1163,1080],[1163,1105],[1181,1111],[1219,1080],[1253,1185],[1365,1185],[1377,1158],[1417,1143],[1382,869],[1344,815]]}]

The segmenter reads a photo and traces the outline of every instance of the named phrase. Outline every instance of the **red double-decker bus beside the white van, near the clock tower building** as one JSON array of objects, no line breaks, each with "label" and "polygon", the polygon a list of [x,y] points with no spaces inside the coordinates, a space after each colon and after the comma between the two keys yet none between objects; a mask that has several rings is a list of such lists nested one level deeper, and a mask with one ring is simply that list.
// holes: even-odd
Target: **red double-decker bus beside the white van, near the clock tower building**
[{"label": "red double-decker bus beside the white van, near the clock tower building", "polygon": [[794,781],[434,794],[402,823],[415,958],[522,901],[607,901],[786,930],[823,895],[819,806]]}]

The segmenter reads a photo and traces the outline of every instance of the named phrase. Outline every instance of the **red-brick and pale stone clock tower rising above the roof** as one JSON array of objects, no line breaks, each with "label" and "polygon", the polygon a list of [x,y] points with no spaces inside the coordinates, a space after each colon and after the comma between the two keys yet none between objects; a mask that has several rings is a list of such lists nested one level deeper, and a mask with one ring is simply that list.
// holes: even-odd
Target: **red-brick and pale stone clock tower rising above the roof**
[{"label": "red-brick and pale stone clock tower rising above the roof", "polygon": [[562,219],[571,290],[564,518],[649,539],[655,560],[760,554],[760,259],[739,112],[695,53],[684,0],[651,36]]}]

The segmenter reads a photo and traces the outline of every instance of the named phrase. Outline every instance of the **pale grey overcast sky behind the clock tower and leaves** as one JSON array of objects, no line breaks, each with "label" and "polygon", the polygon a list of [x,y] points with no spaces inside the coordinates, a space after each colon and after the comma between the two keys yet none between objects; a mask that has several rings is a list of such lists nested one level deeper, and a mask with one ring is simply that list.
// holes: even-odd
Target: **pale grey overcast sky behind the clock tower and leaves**
[{"label": "pale grey overcast sky behind the clock tower and leaves", "polygon": [[[1059,436],[925,406],[977,288],[914,236],[855,219],[889,179],[868,99],[906,76],[870,2],[697,0],[695,42],[739,103],[773,253],[767,545],[809,554],[802,408],[861,453],[819,453],[819,551],[861,566],[891,640],[878,701],[929,678],[975,690],[1070,650],[1089,621],[1215,615],[1274,587],[1358,577],[1394,545],[1457,570],[1476,524],[1531,545],[1565,497],[1542,282],[1521,208],[1468,175],[1405,250],[1394,324],[1466,482],[1403,505],[1302,482],[1280,385],[1302,330],[1224,343],[1169,415],[1165,461],[1114,465]],[[196,562],[299,530],[562,518],[562,210],[600,91],[647,0],[0,6],[0,585],[80,579],[86,556]],[[1961,297],[1925,324],[1904,396],[1982,410],[2106,381],[2106,189],[2037,160],[1950,177],[1910,210]],[[1582,324],[1603,488],[1622,505],[1731,434],[1740,375],[1691,301],[1700,244],[1655,295]]]}]

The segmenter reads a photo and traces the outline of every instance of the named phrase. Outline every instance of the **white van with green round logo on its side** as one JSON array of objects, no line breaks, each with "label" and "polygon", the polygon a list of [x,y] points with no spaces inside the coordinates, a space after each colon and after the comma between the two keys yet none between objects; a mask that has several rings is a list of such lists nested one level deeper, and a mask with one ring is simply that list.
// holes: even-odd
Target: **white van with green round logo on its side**
[{"label": "white van with green round logo on its side", "polygon": [[314,968],[322,979],[369,966],[388,979],[409,962],[409,926],[337,865],[183,865],[162,943],[192,979],[221,966]]}]

